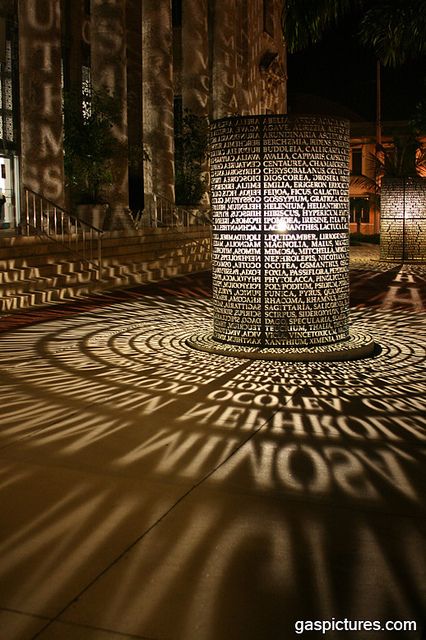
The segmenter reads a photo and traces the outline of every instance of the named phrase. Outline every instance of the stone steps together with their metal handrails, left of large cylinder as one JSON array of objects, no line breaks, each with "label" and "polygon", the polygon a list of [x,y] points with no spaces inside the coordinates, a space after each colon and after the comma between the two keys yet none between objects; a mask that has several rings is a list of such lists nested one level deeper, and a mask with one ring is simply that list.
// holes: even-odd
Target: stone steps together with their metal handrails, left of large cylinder
[{"label": "stone steps together with their metal handrails, left of large cylinder", "polygon": [[101,231],[25,189],[26,235],[0,234],[0,315],[210,268],[209,226],[156,220]]}]

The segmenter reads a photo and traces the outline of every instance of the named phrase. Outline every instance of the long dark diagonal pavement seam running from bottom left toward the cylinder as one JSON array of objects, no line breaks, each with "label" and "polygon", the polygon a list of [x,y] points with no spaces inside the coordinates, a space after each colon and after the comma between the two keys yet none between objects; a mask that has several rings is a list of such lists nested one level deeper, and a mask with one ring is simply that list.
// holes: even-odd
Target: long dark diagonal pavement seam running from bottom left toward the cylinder
[{"label": "long dark diagonal pavement seam running from bottom left toward the cylinder", "polygon": [[[298,393],[299,393],[299,390],[295,391],[295,393],[293,393],[289,397],[287,402],[290,402],[292,399],[294,399],[294,397]],[[139,544],[139,542],[141,542],[149,533],[151,533],[151,531],[153,531],[163,520],[165,520],[167,518],[167,516],[170,513],[172,513],[189,495],[191,495],[198,487],[200,487],[202,484],[204,484],[204,482],[206,482],[206,480],[211,478],[219,469],[221,469],[224,465],[226,465],[226,463],[234,455],[236,455],[248,442],[250,442],[250,440],[253,440],[258,433],[260,433],[263,429],[265,429],[265,427],[273,419],[273,417],[275,416],[276,413],[278,413],[278,409],[275,409],[271,413],[269,418],[267,418],[257,429],[252,431],[252,433],[243,442],[241,442],[238,446],[236,446],[235,449],[233,449],[229,453],[229,455],[224,460],[222,460],[222,462],[220,462],[216,467],[214,467],[211,471],[209,471],[207,474],[205,474],[198,482],[196,482],[194,485],[192,485],[192,487],[190,487],[180,498],[178,498],[178,500],[176,500],[176,502],[169,509],[167,509],[167,511],[165,511],[159,518],[157,518],[157,520],[150,527],[148,527],[148,529],[146,529],[146,531],[144,531],[131,544],[129,544],[112,562],[110,562],[108,564],[108,566],[106,566],[83,589],[81,589],[80,592],[76,596],[74,596],[74,598],[72,598],[72,600],[70,600],[56,614],[55,617],[51,618],[49,620],[49,622],[32,637],[31,640],[36,640],[37,638],[40,638],[41,634],[44,631],[46,631],[46,629],[48,629],[55,622],[65,622],[63,619],[61,619],[61,617],[64,615],[64,613],[66,611],[68,611],[68,609],[70,607],[72,607],[72,605],[75,602],[77,602],[91,587],[93,587],[93,585],[95,585],[96,582],[98,582],[98,580],[100,580],[106,573],[108,573],[108,571],[110,569],[112,569],[118,562],[120,562],[120,560],[122,560],[122,558],[124,558],[124,556],[127,555],[127,553],[129,553],[129,551],[131,549],[133,549],[137,544]],[[109,630],[109,631],[112,632],[112,630]],[[114,633],[115,633],[115,631],[114,631]],[[130,636],[130,637],[132,637],[132,636]],[[135,637],[138,638],[138,636],[135,636]],[[143,639],[143,640],[145,640],[145,639]],[[151,639],[151,638],[149,638],[148,640],[160,640],[160,639],[155,639],[155,638]]]}]

